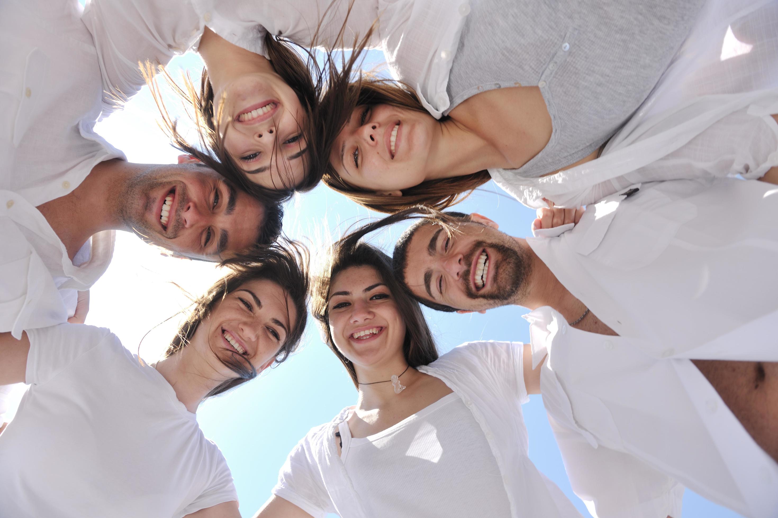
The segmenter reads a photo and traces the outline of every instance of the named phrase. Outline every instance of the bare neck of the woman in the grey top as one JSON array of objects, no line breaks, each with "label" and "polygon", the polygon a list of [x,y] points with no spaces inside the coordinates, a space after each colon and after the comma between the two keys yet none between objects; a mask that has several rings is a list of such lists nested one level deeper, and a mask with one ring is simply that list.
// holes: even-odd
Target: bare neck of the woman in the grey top
[{"label": "bare neck of the woman in the grey top", "polygon": [[467,176],[506,164],[492,144],[453,119],[440,123],[426,162],[425,180]]}]

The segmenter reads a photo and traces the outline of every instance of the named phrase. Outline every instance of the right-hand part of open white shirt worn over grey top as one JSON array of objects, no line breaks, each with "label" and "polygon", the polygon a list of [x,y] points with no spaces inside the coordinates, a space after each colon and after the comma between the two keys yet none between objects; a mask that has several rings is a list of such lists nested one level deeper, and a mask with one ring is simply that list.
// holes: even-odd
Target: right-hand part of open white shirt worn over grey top
[{"label": "right-hand part of open white shirt worn over grey top", "polygon": [[600,158],[541,178],[489,174],[532,208],[546,207],[544,198],[580,207],[633,183],[759,178],[778,165],[769,116],[778,113],[776,87],[778,2],[710,0],[668,71]]}]

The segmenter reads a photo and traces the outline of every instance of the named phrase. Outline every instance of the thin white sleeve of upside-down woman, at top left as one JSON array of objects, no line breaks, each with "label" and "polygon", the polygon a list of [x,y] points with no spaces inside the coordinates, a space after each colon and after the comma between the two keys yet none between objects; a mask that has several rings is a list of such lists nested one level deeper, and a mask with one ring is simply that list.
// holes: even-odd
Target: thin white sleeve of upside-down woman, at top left
[{"label": "thin white sleeve of upside-down woman, at top left", "polygon": [[97,50],[108,112],[145,85],[138,62],[167,64],[191,47],[204,27],[191,5],[179,0],[90,0],[82,20]]}]

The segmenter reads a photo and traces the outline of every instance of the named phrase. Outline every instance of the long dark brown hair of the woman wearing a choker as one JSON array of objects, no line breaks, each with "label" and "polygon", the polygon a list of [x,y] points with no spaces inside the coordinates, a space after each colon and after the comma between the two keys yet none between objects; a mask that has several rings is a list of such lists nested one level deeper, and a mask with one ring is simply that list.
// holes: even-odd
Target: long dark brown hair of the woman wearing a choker
[{"label": "long dark brown hair of the woman wearing a choker", "polygon": [[438,353],[435,340],[432,333],[429,332],[429,326],[422,314],[422,308],[394,279],[389,256],[373,245],[368,245],[365,242],[360,242],[359,239],[346,236],[332,246],[326,266],[324,266],[319,275],[314,277],[311,283],[311,312],[319,322],[324,335],[324,342],[335,353],[335,356],[338,356],[338,360],[341,360],[354,386],[359,388],[354,364],[343,356],[332,339],[328,304],[332,280],[335,279],[338,273],[353,266],[370,266],[376,269],[378,276],[391,292],[398,311],[400,311],[400,315],[405,322],[405,339],[403,339],[402,343],[402,353],[408,365],[419,367],[419,365],[427,365],[437,360]]}]

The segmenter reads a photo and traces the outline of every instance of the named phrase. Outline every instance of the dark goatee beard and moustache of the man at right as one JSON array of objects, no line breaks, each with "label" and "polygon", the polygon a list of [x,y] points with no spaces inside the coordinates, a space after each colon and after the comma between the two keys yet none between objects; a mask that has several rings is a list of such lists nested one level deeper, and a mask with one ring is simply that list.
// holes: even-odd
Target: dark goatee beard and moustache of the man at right
[{"label": "dark goatee beard and moustache of the man at right", "polygon": [[[489,257],[489,269],[494,269],[492,274],[493,289],[489,293],[482,294],[473,290],[469,279],[475,254],[480,254],[485,248],[492,249],[492,256]],[[493,257],[494,252],[497,252],[496,257]],[[500,305],[506,305],[512,304],[526,290],[531,268],[527,252],[523,250],[516,250],[499,243],[479,241],[475,242],[468,255],[464,256],[464,261],[468,264],[468,268],[464,270],[463,274],[464,278],[468,279],[468,282],[464,283],[464,294],[471,299],[498,301],[502,303]]]}]

